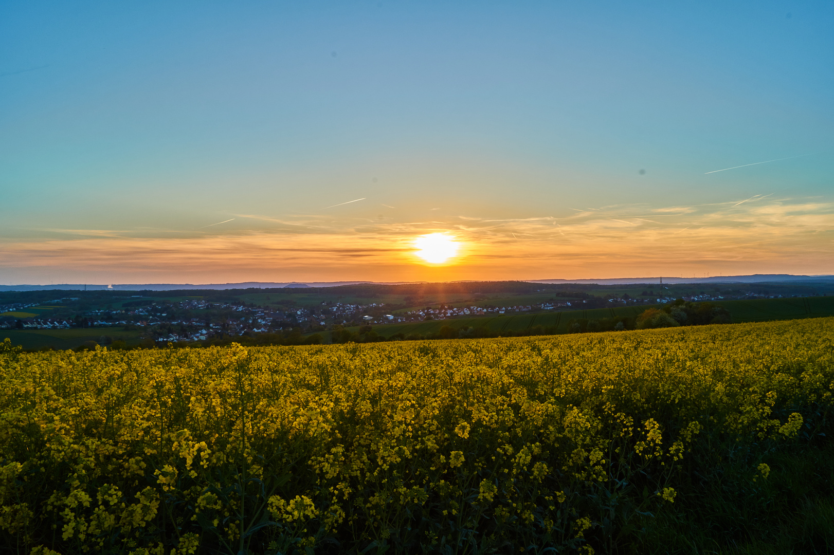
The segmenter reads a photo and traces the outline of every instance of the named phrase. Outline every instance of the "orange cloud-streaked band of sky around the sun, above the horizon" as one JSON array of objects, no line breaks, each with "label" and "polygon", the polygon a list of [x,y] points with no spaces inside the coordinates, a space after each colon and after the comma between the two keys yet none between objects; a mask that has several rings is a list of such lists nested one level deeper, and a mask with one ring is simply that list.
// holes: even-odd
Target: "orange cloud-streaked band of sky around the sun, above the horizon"
[{"label": "orange cloud-streaked band of sky around the sun, above the horizon", "polygon": [[[51,229],[0,243],[0,272],[10,285],[834,273],[834,206],[814,199],[574,211],[564,218],[359,224],[238,214],[196,231]],[[455,238],[459,253],[425,263],[414,247],[425,233]]]}]

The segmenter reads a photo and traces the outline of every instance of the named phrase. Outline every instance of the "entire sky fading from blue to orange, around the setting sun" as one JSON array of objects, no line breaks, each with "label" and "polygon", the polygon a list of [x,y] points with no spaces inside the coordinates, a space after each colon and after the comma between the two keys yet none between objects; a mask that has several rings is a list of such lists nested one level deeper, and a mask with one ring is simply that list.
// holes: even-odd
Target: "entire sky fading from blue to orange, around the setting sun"
[{"label": "entire sky fading from blue to orange, around the setting sun", "polygon": [[0,283],[832,274],[831,52],[827,1],[7,0]]}]

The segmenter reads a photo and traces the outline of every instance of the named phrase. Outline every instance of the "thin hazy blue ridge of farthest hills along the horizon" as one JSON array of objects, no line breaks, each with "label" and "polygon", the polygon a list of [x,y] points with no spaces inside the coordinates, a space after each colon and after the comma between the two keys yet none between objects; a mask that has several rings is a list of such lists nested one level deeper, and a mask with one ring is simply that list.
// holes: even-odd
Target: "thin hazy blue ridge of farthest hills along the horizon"
[{"label": "thin hazy blue ridge of farthest hills along the horizon", "polygon": [[[526,283],[598,283],[598,284],[628,284],[628,283],[658,283],[656,278],[602,278],[602,279],[493,279],[493,280],[456,280],[446,283],[478,283],[478,282],[526,282]],[[766,282],[830,282],[834,275],[804,276],[789,273],[755,273],[746,276],[713,276],[711,278],[672,278],[663,276],[664,283],[766,283]],[[199,289],[274,289],[274,288],[334,288],[340,285],[404,285],[409,283],[428,282],[240,282],[240,283],[113,283],[112,285],[61,283],[57,285],[0,285],[0,291],[173,291]]]}]

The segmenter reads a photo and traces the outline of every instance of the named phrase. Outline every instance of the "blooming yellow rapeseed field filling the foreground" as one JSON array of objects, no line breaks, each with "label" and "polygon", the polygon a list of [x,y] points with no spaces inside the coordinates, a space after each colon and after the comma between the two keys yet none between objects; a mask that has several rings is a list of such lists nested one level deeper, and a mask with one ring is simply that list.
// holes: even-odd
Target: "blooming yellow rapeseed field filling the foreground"
[{"label": "blooming yellow rapeseed field filling the foreground", "polygon": [[834,318],[308,347],[5,343],[0,553],[629,552],[658,515],[697,507],[714,469],[755,497],[768,453],[824,440],[832,345]]}]

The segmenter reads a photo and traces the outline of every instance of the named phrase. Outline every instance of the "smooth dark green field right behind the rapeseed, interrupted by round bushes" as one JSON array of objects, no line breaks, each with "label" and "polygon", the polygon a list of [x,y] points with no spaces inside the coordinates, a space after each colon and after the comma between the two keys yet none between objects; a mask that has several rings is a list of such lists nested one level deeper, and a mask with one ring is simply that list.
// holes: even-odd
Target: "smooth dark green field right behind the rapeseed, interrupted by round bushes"
[{"label": "smooth dark green field right behind the rapeseed, interrupted by round bushes", "polygon": [[[730,312],[734,323],[834,316],[834,297],[767,298],[750,301],[716,301],[715,304],[726,308]],[[493,332],[521,332],[535,326],[542,326],[543,328],[555,327],[558,333],[565,333],[568,323],[573,319],[634,318],[646,308],[649,307],[594,308],[591,310],[523,313],[495,317],[452,318],[427,322],[375,325],[374,332],[379,333],[384,338],[389,338],[394,333],[403,333],[406,336],[412,333],[420,333],[421,335],[437,333],[443,326],[459,329],[486,328]],[[349,329],[355,331],[359,328]]]}]

